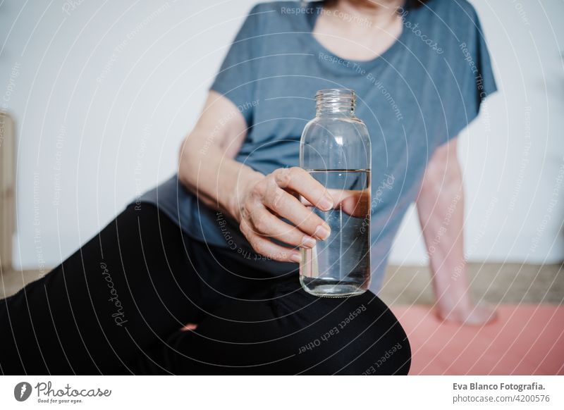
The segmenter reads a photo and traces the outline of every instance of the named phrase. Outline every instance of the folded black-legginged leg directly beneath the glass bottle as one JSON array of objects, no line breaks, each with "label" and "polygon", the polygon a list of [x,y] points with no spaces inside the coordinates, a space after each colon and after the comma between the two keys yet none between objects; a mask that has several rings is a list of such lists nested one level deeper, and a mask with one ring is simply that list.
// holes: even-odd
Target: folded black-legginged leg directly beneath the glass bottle
[{"label": "folded black-legginged leg directly beneath the glass bottle", "polygon": [[317,298],[283,280],[176,332],[139,373],[407,374],[411,352],[393,313],[372,292]]}]

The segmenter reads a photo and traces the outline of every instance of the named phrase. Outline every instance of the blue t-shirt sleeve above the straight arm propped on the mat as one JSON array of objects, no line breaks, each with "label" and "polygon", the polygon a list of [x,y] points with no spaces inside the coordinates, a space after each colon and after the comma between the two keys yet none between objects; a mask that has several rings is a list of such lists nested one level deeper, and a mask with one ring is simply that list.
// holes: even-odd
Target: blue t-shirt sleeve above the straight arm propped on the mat
[{"label": "blue t-shirt sleeve above the straight arm propped on the mat", "polygon": [[456,71],[462,104],[453,107],[448,124],[449,139],[456,137],[478,116],[484,99],[497,89],[482,25],[472,6],[465,13],[465,20],[465,30],[459,32],[458,50],[452,63],[460,68]]}]

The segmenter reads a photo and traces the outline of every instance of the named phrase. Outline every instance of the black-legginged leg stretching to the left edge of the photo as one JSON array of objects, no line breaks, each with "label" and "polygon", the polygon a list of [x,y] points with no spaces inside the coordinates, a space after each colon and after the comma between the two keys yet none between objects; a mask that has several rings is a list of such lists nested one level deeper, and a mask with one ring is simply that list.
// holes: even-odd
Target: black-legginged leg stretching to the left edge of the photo
[{"label": "black-legginged leg stretching to the left edge of the photo", "polygon": [[184,245],[154,206],[130,206],[44,278],[0,300],[0,373],[130,373],[149,345],[202,316]]}]

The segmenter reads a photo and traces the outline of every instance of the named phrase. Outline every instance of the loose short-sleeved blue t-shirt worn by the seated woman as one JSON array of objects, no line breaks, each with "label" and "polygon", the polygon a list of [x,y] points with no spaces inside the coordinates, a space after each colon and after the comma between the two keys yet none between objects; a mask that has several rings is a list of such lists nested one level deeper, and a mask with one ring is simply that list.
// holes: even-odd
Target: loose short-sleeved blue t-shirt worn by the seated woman
[{"label": "loose short-sleeved blue t-shirt worn by the seated woman", "polygon": [[[312,36],[323,2],[257,4],[211,87],[239,107],[249,127],[237,161],[271,173],[298,166],[315,92],[354,89],[356,115],[372,141],[372,287],[379,290],[393,237],[415,200],[435,149],[458,135],[496,90],[474,8],[464,0],[411,1],[400,11],[398,40],[371,61],[339,58]],[[331,11],[333,13],[333,11]],[[337,17],[347,18],[346,15]],[[369,24],[359,19],[357,24]],[[157,204],[195,240],[228,247],[273,275],[292,263],[255,262],[238,225],[197,200],[176,175],[143,201]]]}]

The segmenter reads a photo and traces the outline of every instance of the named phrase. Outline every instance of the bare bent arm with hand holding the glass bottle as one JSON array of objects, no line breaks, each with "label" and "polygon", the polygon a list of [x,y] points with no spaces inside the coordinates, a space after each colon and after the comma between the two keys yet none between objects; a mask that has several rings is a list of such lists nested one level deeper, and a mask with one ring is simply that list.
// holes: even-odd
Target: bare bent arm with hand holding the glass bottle
[{"label": "bare bent arm with hand holding the glass bottle", "polygon": [[[314,247],[316,240],[326,239],[330,232],[326,223],[290,192],[324,210],[333,207],[333,199],[300,168],[262,175],[235,161],[246,135],[245,118],[237,107],[221,94],[210,92],[200,119],[180,147],[178,178],[204,204],[235,219],[259,254],[298,262],[300,252],[295,247]],[[272,242],[273,237],[289,247]]]}]

